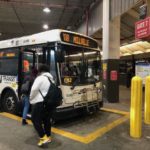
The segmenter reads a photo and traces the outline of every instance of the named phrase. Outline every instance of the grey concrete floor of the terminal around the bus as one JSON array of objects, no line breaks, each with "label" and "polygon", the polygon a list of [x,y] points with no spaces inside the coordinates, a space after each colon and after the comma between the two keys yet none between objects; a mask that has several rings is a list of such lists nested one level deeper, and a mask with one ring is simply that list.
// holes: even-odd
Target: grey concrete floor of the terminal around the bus
[{"label": "grey concrete floor of the terminal around the bus", "polygon": [[[105,103],[105,108],[129,110],[130,91],[124,87],[120,88],[120,103]],[[57,123],[53,129],[52,143],[46,145],[44,149],[150,150],[150,126],[143,124],[142,137],[132,139],[129,136],[129,119],[111,128],[110,124],[121,118],[123,118],[121,114],[100,111],[87,117]],[[95,131],[101,128],[107,128],[109,131],[97,136],[91,142],[82,142],[90,133],[95,136]],[[22,126],[19,121],[0,114],[0,150],[38,150],[41,148],[36,146],[37,141],[38,137],[32,125]]]}]

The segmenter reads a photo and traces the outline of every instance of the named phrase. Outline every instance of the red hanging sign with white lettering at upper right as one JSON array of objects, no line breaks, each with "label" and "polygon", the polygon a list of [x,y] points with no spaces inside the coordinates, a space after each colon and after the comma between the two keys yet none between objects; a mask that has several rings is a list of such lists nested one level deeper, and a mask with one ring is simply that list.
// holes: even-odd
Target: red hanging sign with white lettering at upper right
[{"label": "red hanging sign with white lettering at upper right", "polygon": [[150,38],[150,17],[147,17],[135,23],[135,38],[136,39]]}]

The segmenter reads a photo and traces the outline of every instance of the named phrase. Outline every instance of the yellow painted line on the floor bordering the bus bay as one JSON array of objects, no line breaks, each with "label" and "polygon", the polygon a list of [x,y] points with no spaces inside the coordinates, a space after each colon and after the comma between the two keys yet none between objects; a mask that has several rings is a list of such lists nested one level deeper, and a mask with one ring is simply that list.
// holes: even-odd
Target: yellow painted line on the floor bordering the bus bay
[{"label": "yellow painted line on the floor bordering the bus bay", "polygon": [[[111,111],[112,110],[112,111]],[[113,113],[117,113],[118,114],[124,114],[123,117],[105,125],[105,127],[101,127],[97,130],[95,130],[94,132],[91,132],[89,134],[87,134],[86,136],[80,136],[68,131],[64,131],[58,128],[54,128],[52,127],[52,132],[61,136],[64,136],[66,138],[84,143],[84,144],[88,144],[94,140],[96,140],[98,137],[101,137],[102,135],[104,135],[105,133],[107,133],[108,131],[110,131],[111,129],[113,129],[114,127],[120,125],[121,123],[125,122],[128,118],[129,118],[129,113],[127,112],[123,112],[123,111],[118,111],[118,110],[113,110],[113,109],[103,109],[103,111],[108,111],[108,112],[113,112]],[[126,115],[125,115],[126,114]],[[9,113],[0,113],[0,115],[5,116],[7,118],[11,118],[13,120],[22,121],[21,117],[15,116],[13,114],[9,114]],[[28,123],[32,125],[32,122],[30,120],[28,120]]]}]

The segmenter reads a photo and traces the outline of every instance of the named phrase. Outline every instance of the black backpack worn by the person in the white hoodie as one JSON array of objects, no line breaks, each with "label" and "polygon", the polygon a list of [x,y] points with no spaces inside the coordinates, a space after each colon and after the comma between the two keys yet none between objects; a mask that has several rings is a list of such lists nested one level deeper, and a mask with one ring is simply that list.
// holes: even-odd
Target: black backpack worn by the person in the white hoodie
[{"label": "black backpack worn by the person in the white hoodie", "polygon": [[[46,76],[47,77],[47,76]],[[48,106],[57,107],[62,104],[62,91],[61,89],[56,86],[50,79],[47,77],[50,82],[50,87],[48,89],[48,92],[46,96],[43,96],[43,94],[40,91],[40,94],[44,98],[44,104]]]}]

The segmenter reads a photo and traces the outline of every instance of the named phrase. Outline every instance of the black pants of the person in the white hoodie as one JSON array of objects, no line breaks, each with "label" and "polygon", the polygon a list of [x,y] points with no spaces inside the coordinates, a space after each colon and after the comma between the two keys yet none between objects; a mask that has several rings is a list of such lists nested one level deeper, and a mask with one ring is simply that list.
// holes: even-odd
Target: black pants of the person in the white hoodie
[{"label": "black pants of the person in the white hoodie", "polygon": [[32,105],[32,122],[40,138],[51,135],[53,107],[45,107],[43,102]]}]

